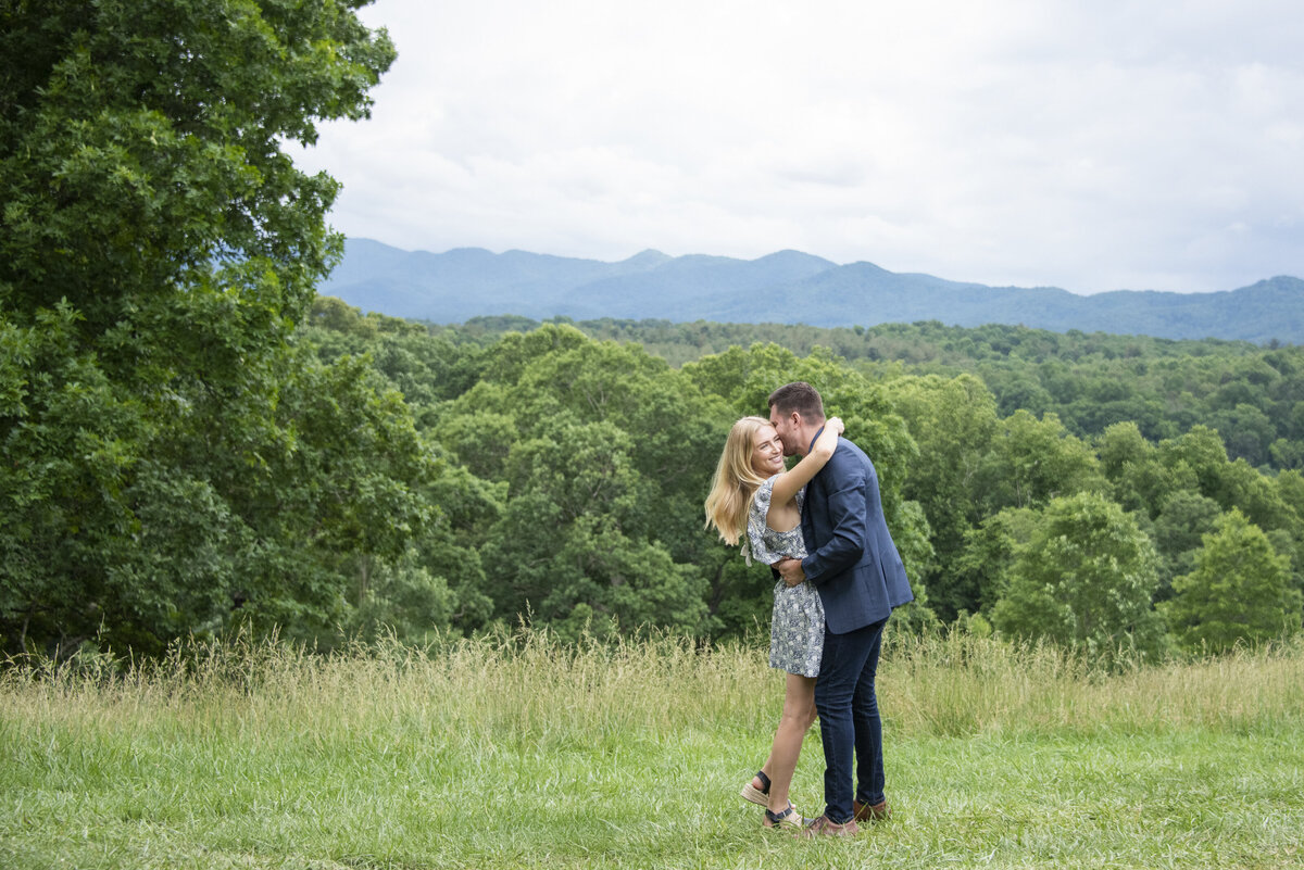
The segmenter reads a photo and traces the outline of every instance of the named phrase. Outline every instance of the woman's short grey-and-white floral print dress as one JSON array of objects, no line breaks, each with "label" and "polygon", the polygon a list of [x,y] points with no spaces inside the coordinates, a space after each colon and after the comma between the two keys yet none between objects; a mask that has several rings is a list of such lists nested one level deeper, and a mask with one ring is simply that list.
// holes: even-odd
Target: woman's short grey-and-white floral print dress
[{"label": "woman's short grey-and-white floral print dress", "polygon": [[[780,559],[806,557],[806,542],[798,525],[789,531],[775,531],[765,525],[769,500],[775,492],[775,478],[760,484],[752,496],[747,513],[747,543],[751,557],[772,565]],[[806,501],[806,488],[797,494],[797,509]],[[769,623],[769,667],[803,677],[819,676],[819,662],[824,654],[824,606],[819,593],[807,580],[789,586],[782,580],[775,583],[775,611]]]}]

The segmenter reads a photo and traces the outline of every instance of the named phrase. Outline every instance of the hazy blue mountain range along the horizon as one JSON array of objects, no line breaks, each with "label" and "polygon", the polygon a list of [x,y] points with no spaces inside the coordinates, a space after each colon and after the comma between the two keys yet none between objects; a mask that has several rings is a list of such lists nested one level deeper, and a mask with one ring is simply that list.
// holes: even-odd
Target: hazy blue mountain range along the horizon
[{"label": "hazy blue mountain range along the horizon", "polygon": [[1304,344],[1304,281],[1288,276],[1217,293],[1078,296],[889,272],[865,262],[840,266],[793,250],[754,260],[647,250],[606,263],[479,247],[432,254],[349,238],[318,289],[364,311],[434,323],[497,314],[819,327],[940,320]]}]

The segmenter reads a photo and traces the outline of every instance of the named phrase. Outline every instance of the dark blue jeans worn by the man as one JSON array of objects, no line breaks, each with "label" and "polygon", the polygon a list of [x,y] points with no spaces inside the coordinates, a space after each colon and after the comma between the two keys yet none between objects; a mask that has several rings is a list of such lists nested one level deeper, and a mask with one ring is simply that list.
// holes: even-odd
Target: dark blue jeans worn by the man
[{"label": "dark blue jeans worn by the man", "polygon": [[[815,681],[815,710],[824,741],[824,814],[831,822],[850,821],[852,798],[862,804],[883,800],[883,720],[874,693],[874,673],[887,620],[833,634],[824,628],[824,658]],[[852,768],[855,768],[855,792]]]}]

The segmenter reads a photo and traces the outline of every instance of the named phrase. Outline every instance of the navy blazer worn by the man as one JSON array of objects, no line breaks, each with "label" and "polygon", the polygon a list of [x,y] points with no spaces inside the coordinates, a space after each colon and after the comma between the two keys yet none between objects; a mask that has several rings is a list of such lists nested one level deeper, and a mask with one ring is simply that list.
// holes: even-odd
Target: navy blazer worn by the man
[{"label": "navy blazer worn by the man", "polygon": [[833,634],[885,620],[893,607],[914,600],[879,500],[879,475],[859,447],[837,439],[837,449],[806,484],[802,505],[806,572]]}]

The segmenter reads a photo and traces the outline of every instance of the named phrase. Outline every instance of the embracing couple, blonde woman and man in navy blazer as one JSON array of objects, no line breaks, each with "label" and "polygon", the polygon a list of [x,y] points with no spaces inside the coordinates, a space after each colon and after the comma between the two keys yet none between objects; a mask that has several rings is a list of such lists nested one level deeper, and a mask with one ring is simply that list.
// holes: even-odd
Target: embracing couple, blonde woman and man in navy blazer
[{"label": "embracing couple, blonde woman and man in navy blazer", "polygon": [[[769,758],[742,796],[765,807],[767,827],[806,836],[855,834],[889,813],[874,675],[892,608],[914,599],[874,464],[841,432],[814,387],[780,387],[768,421],[745,417],[729,431],[707,498],[708,524],[775,573],[769,666],[788,673]],[[807,821],[788,791],[816,714],[825,806]]]}]

